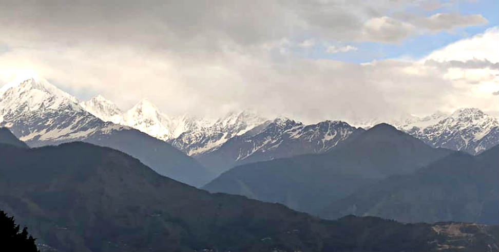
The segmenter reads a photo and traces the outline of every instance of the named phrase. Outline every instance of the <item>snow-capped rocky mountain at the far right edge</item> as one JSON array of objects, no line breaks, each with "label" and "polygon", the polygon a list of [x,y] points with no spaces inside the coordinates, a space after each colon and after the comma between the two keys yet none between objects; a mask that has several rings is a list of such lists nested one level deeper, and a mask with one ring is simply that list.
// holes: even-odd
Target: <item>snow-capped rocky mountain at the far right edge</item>
[{"label": "snow-capped rocky mountain at the far right edge", "polygon": [[493,116],[479,109],[456,110],[430,116],[413,124],[399,125],[399,129],[435,147],[481,153],[499,143],[499,123]]}]

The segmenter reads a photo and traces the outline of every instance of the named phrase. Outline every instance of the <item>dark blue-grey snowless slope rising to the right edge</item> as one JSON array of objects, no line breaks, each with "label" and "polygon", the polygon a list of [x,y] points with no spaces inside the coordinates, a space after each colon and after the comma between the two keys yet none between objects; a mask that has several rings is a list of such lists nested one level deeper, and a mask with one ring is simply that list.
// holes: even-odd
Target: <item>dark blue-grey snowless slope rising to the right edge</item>
[{"label": "dark blue-grey snowless slope rising to the right edge", "polygon": [[479,156],[462,152],[415,174],[362,188],[326,207],[321,216],[372,215],[404,222],[436,220],[499,223],[499,147]]}]

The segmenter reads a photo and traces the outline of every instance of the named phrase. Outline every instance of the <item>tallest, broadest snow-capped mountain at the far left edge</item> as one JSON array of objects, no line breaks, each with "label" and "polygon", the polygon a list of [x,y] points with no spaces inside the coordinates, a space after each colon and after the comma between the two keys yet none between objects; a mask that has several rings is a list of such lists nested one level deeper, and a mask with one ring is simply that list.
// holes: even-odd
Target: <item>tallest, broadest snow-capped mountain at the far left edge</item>
[{"label": "tallest, broadest snow-capped mountain at the far left edge", "polygon": [[78,99],[41,78],[9,82],[0,89],[0,125],[31,146],[123,128],[92,116]]}]

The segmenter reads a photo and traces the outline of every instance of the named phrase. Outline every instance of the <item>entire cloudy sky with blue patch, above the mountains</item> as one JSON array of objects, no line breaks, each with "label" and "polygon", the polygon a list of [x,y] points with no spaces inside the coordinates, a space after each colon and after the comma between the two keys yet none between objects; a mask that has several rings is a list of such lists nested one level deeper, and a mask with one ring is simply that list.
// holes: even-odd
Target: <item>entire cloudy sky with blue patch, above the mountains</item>
[{"label": "entire cloudy sky with blue patch, above the mountains", "polygon": [[499,110],[498,1],[4,1],[0,84],[304,122]]}]

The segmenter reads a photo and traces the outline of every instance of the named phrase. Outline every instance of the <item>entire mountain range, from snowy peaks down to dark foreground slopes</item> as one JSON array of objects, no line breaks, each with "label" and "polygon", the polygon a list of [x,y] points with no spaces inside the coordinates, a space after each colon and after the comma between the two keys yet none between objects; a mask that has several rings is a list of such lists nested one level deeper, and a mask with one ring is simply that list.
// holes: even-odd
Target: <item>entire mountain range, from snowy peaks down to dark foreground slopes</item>
[{"label": "entire mountain range, from snowy peaks down to dark foreground slopes", "polygon": [[0,88],[0,209],[44,250],[497,248],[497,119],[366,125],[123,112],[16,80]]}]

